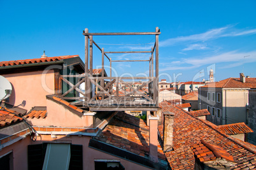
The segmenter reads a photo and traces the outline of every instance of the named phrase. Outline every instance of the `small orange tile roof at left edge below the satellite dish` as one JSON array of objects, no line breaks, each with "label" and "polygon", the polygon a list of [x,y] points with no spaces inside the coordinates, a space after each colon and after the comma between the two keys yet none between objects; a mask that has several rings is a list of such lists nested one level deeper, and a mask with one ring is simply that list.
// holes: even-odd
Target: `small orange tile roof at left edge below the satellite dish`
[{"label": "small orange tile roof at left edge below the satellite dish", "polygon": [[0,125],[4,126],[18,121],[22,121],[23,118],[17,117],[15,113],[16,111],[11,111],[6,108],[0,107]]}]

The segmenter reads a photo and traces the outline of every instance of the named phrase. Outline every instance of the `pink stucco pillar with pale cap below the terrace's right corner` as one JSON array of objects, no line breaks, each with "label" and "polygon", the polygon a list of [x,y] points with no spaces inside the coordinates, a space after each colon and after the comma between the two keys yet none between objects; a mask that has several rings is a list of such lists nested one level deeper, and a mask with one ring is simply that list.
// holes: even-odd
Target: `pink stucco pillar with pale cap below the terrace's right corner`
[{"label": "pink stucco pillar with pale cap below the terrace's right corner", "polygon": [[157,126],[159,116],[148,115],[148,120],[150,124],[150,160],[153,162],[158,162],[158,134],[157,134]]}]

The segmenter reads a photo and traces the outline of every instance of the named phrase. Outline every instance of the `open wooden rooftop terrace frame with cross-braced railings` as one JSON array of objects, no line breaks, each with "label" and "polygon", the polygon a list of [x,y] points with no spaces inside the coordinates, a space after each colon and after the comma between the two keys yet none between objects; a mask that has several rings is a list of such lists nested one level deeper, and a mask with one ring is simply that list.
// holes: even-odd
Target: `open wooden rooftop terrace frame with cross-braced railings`
[{"label": "open wooden rooftop terrace frame with cross-braced railings", "polygon": [[[158,110],[158,83],[159,83],[159,28],[155,28],[155,32],[106,32],[106,33],[89,33],[88,29],[83,31],[85,36],[85,74],[82,75],[66,75],[61,76],[61,79],[71,86],[67,92],[62,94],[60,97],[63,99],[83,99],[83,106],[89,107],[90,110],[142,110],[142,111],[157,111]],[[150,51],[130,51],[130,52],[105,52],[104,48],[100,48],[99,45],[93,40],[93,36],[122,36],[122,35],[153,35],[155,36],[155,44]],[[102,73],[101,76],[92,76],[92,64],[93,64],[93,45],[95,45],[102,54]],[[111,60],[108,57],[108,53],[151,53],[148,60]],[[155,53],[155,61],[154,61]],[[110,76],[104,76],[104,57],[110,61]],[[116,77],[111,76],[111,64],[112,62],[149,62],[149,77]],[[154,63],[155,62],[155,63]],[[155,71],[153,65],[155,64]],[[154,74],[155,73],[155,74]],[[73,85],[66,78],[76,77],[82,78],[81,81]],[[100,81],[100,84],[97,81]],[[109,80],[108,83],[105,83]],[[148,80],[143,83],[140,87],[135,89],[129,83],[124,80]],[[85,82],[85,92],[78,89],[81,83]],[[116,92],[113,94],[112,85],[116,83]],[[119,96],[119,83],[129,87],[131,91],[124,96]],[[96,96],[92,97],[92,85],[95,85],[99,92]],[[143,87],[148,86],[149,94],[146,95],[140,92]],[[76,90],[84,97],[65,97],[66,94]],[[136,97],[141,97],[143,101],[134,101],[134,94]],[[99,100],[99,97],[101,99]],[[119,108],[119,109],[118,109]],[[121,109],[120,109],[121,108]]]}]

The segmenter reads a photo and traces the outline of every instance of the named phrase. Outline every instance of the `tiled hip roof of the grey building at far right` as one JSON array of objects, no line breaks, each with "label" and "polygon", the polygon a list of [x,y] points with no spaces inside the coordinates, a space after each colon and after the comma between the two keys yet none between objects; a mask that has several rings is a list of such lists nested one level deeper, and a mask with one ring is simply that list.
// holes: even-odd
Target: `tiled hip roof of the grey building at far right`
[{"label": "tiled hip roof of the grey building at far right", "polygon": [[240,78],[227,78],[215,83],[209,83],[202,88],[256,88],[256,78],[245,78],[245,83]]}]

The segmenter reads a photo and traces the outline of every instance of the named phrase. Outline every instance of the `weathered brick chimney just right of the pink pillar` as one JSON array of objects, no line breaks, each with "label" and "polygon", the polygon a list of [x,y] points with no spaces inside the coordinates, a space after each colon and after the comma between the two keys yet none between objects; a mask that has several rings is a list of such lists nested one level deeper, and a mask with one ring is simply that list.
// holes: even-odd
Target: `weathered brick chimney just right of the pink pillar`
[{"label": "weathered brick chimney just right of the pink pillar", "polygon": [[172,150],[173,147],[173,123],[174,113],[164,111],[164,152]]}]

